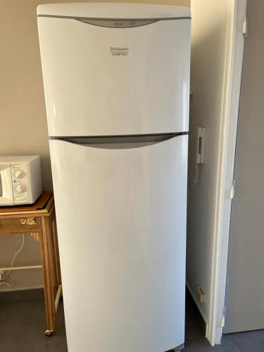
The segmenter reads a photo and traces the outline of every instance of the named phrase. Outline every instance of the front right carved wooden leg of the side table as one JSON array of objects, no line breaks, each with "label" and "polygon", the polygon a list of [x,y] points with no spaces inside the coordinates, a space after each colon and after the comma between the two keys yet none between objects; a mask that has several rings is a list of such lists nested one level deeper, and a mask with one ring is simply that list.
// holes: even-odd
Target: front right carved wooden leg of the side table
[{"label": "front right carved wooden leg of the side table", "polygon": [[56,329],[56,308],[55,308],[55,280],[54,280],[54,255],[52,244],[51,217],[41,218],[42,236],[42,266],[46,310],[46,336],[50,336]]}]

